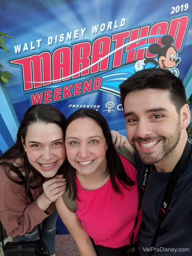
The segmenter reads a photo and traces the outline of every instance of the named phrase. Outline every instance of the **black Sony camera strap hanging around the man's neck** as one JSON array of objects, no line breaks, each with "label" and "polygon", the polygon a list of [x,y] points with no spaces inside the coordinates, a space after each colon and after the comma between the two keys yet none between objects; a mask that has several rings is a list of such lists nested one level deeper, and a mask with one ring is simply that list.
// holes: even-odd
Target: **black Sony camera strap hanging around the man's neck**
[{"label": "black Sony camera strap hanging around the man's neck", "polygon": [[[177,181],[179,180],[180,176],[185,172],[185,170],[189,164],[191,154],[192,154],[192,145],[191,145],[190,141],[187,140],[187,143],[183,150],[183,154],[180,157],[180,160],[175,165],[175,168],[173,169],[173,171],[171,173],[171,176],[169,178],[169,181],[168,181],[165,193],[164,193],[163,202],[161,204],[161,209],[159,211],[158,228],[156,230],[156,234],[154,236],[154,239],[153,239],[153,242],[151,245],[152,247],[154,247],[156,244],[157,234],[158,234],[160,225],[162,224],[162,222],[165,219],[167,207],[171,203],[172,195],[173,195],[174,189],[176,187]],[[146,188],[146,184],[147,184],[147,180],[148,180],[149,171],[150,171],[150,167],[147,166],[146,171],[144,173],[143,182],[142,182],[141,188],[140,188],[140,205],[142,203],[142,200],[143,200],[143,197],[145,194],[145,188]],[[150,253],[150,255],[151,254],[152,254],[152,252]]]}]

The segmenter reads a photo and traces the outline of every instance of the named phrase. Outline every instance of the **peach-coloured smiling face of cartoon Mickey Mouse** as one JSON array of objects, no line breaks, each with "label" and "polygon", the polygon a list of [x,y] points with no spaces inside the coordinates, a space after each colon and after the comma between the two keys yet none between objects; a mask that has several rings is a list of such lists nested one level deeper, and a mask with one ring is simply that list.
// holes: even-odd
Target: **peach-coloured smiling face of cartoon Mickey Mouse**
[{"label": "peach-coloured smiling face of cartoon Mickey Mouse", "polygon": [[173,68],[176,66],[177,52],[173,47],[170,47],[166,52],[166,57],[159,58],[160,68]]}]

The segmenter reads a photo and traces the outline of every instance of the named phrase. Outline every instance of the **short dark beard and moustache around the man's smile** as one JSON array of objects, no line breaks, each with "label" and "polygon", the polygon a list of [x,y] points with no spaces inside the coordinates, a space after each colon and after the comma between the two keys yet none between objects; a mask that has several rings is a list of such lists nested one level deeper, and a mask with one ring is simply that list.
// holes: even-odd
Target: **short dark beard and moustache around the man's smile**
[{"label": "short dark beard and moustache around the man's smile", "polygon": [[[131,146],[138,152],[141,161],[144,164],[153,165],[158,162],[160,162],[164,157],[167,157],[167,155],[177,146],[181,135],[181,129],[180,124],[176,127],[176,132],[172,132],[172,134],[169,137],[164,136],[155,136],[155,137],[147,137],[147,138],[140,138],[140,137],[134,137],[132,141],[130,141]],[[161,148],[158,148],[157,150],[153,152],[141,152],[140,148],[137,146],[137,142],[151,142],[161,140],[160,143],[162,143]],[[158,142],[159,143],[159,142]]]}]

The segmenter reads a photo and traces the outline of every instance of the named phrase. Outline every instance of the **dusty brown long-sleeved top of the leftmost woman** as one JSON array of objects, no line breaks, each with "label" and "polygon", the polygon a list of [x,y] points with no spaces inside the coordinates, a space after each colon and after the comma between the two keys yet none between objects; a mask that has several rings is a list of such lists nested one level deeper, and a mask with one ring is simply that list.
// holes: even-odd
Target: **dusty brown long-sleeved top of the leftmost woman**
[{"label": "dusty brown long-sleeved top of the leftmost woman", "polygon": [[24,235],[54,212],[55,203],[50,204],[45,212],[39,208],[37,197],[43,193],[43,186],[35,189],[36,194],[31,189],[35,201],[30,203],[24,185],[7,177],[5,172],[8,169],[6,165],[0,165],[0,220],[8,235]]}]

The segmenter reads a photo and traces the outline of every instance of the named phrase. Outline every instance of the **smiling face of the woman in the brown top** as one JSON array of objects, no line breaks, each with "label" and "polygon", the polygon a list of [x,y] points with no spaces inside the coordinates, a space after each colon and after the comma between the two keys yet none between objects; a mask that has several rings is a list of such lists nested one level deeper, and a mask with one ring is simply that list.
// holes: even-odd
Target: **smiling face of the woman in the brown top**
[{"label": "smiling face of the woman in the brown top", "polygon": [[46,178],[57,173],[66,157],[63,131],[57,124],[30,125],[23,146],[29,163]]}]

